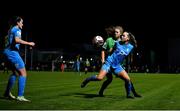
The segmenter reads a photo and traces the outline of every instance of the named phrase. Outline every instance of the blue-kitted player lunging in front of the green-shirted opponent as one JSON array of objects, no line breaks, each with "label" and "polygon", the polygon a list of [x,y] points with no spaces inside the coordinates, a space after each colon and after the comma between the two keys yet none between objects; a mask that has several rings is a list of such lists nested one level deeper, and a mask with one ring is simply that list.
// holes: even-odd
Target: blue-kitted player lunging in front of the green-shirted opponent
[{"label": "blue-kitted player lunging in front of the green-shirted opponent", "polygon": [[109,71],[113,71],[113,74],[124,80],[127,98],[134,98],[133,96],[131,96],[131,91],[133,92],[135,97],[141,97],[141,95],[135,92],[129,75],[120,64],[123,62],[125,57],[130,54],[132,49],[136,46],[136,43],[137,42],[135,40],[135,37],[131,33],[124,32],[123,36],[121,36],[121,41],[115,42],[113,53],[108,56],[105,63],[101,67],[99,74],[86,78],[81,83],[81,88],[85,87],[90,81],[102,80]]}]

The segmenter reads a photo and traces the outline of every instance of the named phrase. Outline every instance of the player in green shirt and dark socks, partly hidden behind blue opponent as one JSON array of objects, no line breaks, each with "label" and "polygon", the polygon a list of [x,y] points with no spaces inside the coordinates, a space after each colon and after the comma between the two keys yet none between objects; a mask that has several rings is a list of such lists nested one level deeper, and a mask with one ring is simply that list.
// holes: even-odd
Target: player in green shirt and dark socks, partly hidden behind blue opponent
[{"label": "player in green shirt and dark socks, partly hidden behind blue opponent", "polygon": [[[102,46],[102,52],[101,52],[101,60],[102,64],[105,62],[105,58],[107,58],[113,50],[115,41],[120,41],[120,36],[123,33],[123,28],[121,26],[110,26],[105,29],[108,38],[106,39],[104,45]],[[109,71],[106,74],[106,80],[103,82],[101,89],[99,90],[99,96],[104,96],[104,90],[107,88],[107,86],[112,82],[113,76],[112,72]]]}]

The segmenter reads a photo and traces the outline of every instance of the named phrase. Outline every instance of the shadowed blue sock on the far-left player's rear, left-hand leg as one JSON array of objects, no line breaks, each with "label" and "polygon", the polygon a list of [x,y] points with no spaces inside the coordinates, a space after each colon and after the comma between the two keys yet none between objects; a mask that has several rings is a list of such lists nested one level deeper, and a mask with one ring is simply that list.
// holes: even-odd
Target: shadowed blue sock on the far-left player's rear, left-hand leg
[{"label": "shadowed blue sock on the far-left player's rear, left-hand leg", "polygon": [[16,82],[16,74],[10,75],[9,80],[8,80],[8,84],[7,84],[7,87],[6,87],[5,94],[9,94],[10,93],[10,90],[12,89],[13,85],[15,84],[15,82]]}]

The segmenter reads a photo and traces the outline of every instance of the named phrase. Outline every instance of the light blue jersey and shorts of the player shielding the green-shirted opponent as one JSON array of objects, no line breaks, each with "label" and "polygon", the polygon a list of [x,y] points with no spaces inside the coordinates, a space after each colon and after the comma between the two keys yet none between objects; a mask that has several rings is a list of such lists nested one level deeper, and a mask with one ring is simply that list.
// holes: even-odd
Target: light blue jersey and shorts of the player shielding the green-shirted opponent
[{"label": "light blue jersey and shorts of the player shielding the green-shirted opponent", "polygon": [[123,62],[125,57],[129,55],[133,48],[134,46],[130,43],[121,45],[118,41],[116,41],[114,51],[106,59],[105,64],[102,66],[102,70],[108,72],[110,71],[110,68],[113,68],[115,74],[120,73],[124,70],[120,64]]}]

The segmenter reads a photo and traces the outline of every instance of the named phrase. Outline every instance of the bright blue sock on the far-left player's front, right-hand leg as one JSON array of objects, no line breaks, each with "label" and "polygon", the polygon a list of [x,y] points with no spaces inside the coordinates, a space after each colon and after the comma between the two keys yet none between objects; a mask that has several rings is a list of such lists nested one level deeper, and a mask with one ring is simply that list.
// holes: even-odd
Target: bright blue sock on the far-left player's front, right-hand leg
[{"label": "bright blue sock on the far-left player's front, right-hand leg", "polygon": [[23,96],[24,95],[25,85],[26,85],[26,77],[25,76],[19,76],[18,96]]}]

